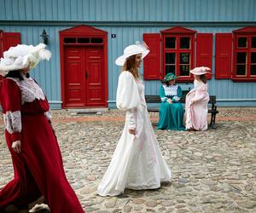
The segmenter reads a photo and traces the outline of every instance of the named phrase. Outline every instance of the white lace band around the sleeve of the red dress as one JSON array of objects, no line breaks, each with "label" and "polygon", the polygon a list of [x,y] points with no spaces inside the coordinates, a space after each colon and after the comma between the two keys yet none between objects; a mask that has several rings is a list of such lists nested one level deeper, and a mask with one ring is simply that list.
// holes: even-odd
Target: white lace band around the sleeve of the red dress
[{"label": "white lace band around the sleeve of the red dress", "polygon": [[3,114],[5,129],[9,134],[14,132],[21,132],[21,114],[20,111],[10,112],[7,111]]}]

